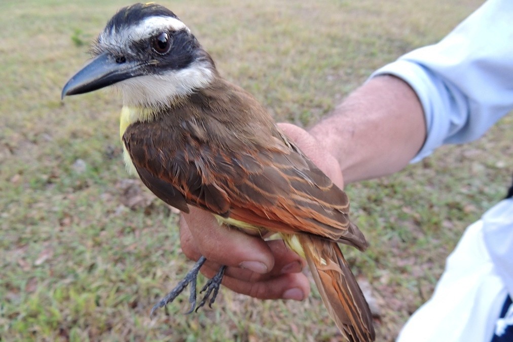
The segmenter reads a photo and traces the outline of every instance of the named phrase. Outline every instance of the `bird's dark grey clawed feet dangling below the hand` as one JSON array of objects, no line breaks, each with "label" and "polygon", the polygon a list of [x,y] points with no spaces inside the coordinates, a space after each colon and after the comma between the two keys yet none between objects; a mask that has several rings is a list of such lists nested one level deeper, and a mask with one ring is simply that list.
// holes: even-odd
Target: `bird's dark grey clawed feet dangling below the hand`
[{"label": "bird's dark grey clawed feet dangling below the hand", "polygon": [[219,272],[212,279],[209,279],[208,282],[205,284],[203,289],[200,291],[200,293],[206,291],[205,296],[201,300],[199,306],[196,308],[196,283],[198,273],[200,273],[200,269],[206,260],[207,259],[204,256],[202,256],[198,261],[196,261],[194,267],[187,273],[185,278],[182,281],[180,281],[178,285],[167,294],[167,296],[162,298],[153,306],[150,312],[150,318],[153,317],[153,314],[157,309],[162,308],[166,306],[168,303],[172,302],[179,294],[181,294],[185,290],[185,288],[189,284],[189,303],[191,304],[191,308],[187,312],[187,314],[190,314],[192,311],[194,311],[194,309],[198,311],[199,308],[204,306],[208,297],[210,296],[210,294],[212,294],[213,291],[212,298],[210,298],[210,301],[208,303],[208,306],[212,307],[212,303],[214,302],[215,297],[218,295],[219,288],[221,286],[221,280],[223,279],[226,266],[222,266],[219,269]]}]

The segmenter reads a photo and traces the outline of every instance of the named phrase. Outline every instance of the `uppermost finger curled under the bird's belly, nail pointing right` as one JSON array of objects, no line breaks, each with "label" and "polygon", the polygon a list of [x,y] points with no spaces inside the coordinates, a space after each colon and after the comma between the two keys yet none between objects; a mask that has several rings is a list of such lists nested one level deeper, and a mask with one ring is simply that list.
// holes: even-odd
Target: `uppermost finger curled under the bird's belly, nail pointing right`
[{"label": "uppermost finger curled under the bird's belly, nail pointing right", "polygon": [[180,220],[181,244],[190,259],[205,256],[209,262],[267,273],[274,257],[267,243],[236,229],[220,226],[215,217],[198,208],[190,208]]}]

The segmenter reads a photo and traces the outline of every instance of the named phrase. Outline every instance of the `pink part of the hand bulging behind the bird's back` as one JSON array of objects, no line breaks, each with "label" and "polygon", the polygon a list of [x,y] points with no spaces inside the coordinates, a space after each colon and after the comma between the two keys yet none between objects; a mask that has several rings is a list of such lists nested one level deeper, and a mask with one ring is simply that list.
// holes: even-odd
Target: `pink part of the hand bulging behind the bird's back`
[{"label": "pink part of the hand bulging behind the bird's back", "polygon": [[278,126],[335,185],[341,189],[344,188],[344,178],[339,162],[326,151],[319,140],[296,125],[284,122],[279,123]]}]

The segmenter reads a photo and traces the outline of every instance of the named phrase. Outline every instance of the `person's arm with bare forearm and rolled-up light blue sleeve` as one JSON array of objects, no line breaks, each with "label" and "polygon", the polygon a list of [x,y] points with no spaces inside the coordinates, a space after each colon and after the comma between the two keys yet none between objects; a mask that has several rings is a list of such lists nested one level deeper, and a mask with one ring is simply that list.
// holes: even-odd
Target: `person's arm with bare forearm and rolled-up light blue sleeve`
[{"label": "person's arm with bare forearm and rolled-up light blue sleeve", "polygon": [[478,139],[513,108],[511,15],[513,3],[487,1],[438,44],[374,72],[310,130],[337,158],[346,182]]}]

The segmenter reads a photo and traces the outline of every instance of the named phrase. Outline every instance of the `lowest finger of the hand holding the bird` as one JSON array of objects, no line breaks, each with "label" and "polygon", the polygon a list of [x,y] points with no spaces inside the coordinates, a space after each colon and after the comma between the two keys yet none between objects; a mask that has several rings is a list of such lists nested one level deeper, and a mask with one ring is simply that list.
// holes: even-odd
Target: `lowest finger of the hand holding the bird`
[{"label": "lowest finger of the hand holding the bird", "polygon": [[[208,269],[211,278],[216,272]],[[259,299],[303,300],[310,293],[310,282],[303,273],[287,273],[269,280],[247,282],[225,276],[222,281],[228,289]]]}]

